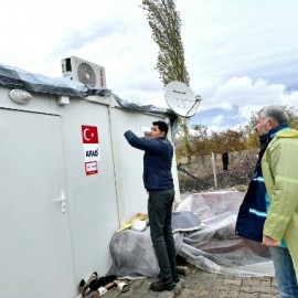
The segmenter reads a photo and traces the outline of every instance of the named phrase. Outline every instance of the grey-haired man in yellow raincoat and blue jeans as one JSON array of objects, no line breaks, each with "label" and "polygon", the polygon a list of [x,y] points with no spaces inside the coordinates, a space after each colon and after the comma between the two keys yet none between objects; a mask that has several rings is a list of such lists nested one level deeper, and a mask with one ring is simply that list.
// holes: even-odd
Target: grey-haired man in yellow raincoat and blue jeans
[{"label": "grey-haired man in yellow raincoat and blue jeans", "polygon": [[258,135],[268,136],[262,158],[267,217],[263,245],[269,247],[280,297],[298,297],[298,131],[280,106],[258,113]]}]

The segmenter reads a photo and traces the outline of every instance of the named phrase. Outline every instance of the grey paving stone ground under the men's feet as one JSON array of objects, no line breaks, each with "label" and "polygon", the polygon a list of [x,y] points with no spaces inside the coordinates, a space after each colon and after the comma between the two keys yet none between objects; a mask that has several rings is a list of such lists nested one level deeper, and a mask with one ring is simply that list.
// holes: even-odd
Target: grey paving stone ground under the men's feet
[{"label": "grey paving stone ground under the men's feet", "polygon": [[188,266],[190,275],[181,278],[170,291],[149,290],[151,278],[126,280],[130,288],[127,292],[113,289],[103,297],[126,298],[278,298],[276,280],[273,277],[234,277],[207,273],[193,265]]}]

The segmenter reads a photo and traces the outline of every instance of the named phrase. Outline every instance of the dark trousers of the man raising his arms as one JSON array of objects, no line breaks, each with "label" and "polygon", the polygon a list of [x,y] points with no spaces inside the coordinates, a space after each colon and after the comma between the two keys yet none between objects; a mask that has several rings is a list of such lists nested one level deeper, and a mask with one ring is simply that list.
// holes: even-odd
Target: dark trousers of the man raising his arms
[{"label": "dark trousers of the man raising his arms", "polygon": [[150,235],[162,280],[169,280],[177,276],[175,247],[171,226],[173,200],[173,190],[149,191]]}]

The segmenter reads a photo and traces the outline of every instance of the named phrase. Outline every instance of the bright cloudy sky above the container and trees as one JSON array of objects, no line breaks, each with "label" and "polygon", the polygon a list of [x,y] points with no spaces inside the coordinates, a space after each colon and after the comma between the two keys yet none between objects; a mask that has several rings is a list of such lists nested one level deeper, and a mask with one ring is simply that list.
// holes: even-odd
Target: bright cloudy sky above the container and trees
[{"label": "bright cloudy sky above the container and trees", "polygon": [[[1,6],[0,64],[62,77],[61,60],[105,67],[107,88],[167,107],[158,46],[141,0],[11,0]],[[236,129],[265,105],[298,108],[297,0],[177,0],[190,88],[190,125]]]}]

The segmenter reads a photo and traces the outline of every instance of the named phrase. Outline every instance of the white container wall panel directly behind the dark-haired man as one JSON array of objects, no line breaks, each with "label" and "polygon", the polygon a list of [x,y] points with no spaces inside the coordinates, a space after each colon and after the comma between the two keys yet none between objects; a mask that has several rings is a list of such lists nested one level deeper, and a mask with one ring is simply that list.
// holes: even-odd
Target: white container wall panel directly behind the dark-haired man
[{"label": "white container wall panel directly behind the dark-haired man", "polygon": [[[142,181],[142,157],[143,151],[131,147],[124,134],[131,130],[141,137],[143,128],[150,130],[152,123],[163,120],[169,124],[169,119],[163,115],[141,114],[126,109],[113,109],[113,131],[115,143],[115,159],[117,167],[117,189],[119,200],[121,225],[128,222],[136,213],[147,214],[148,194]],[[168,138],[170,139],[170,131]],[[177,178],[177,164],[173,159],[172,173],[175,188],[175,200],[180,200]]]}]

